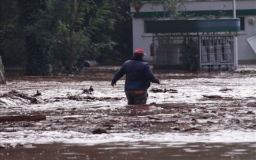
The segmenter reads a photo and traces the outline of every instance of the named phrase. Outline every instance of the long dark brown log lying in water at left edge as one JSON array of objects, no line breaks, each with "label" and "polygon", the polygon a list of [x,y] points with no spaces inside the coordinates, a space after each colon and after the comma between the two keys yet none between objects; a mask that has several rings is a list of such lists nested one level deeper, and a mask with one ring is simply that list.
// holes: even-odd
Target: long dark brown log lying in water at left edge
[{"label": "long dark brown log lying in water at left edge", "polygon": [[34,115],[34,116],[2,116],[0,122],[13,122],[13,121],[43,121],[46,119],[46,115]]}]

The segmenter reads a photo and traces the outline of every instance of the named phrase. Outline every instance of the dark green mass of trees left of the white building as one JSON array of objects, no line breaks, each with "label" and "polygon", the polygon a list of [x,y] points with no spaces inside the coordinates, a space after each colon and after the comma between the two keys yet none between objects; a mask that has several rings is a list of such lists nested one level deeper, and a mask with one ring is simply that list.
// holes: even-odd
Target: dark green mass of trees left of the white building
[{"label": "dark green mass of trees left of the white building", "polygon": [[[158,0],[177,4],[185,0]],[[73,73],[85,60],[132,56],[130,6],[140,0],[1,0],[0,55],[28,75]],[[167,7],[166,7],[167,9]]]}]

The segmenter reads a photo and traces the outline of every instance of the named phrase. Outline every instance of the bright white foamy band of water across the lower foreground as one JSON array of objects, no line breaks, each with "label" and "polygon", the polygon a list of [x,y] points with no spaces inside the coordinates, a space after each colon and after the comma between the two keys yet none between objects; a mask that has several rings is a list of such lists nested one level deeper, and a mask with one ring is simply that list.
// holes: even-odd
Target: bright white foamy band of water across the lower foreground
[{"label": "bright white foamy band of water across the lower foreground", "polygon": [[35,132],[23,130],[17,132],[0,132],[0,145],[28,144],[28,143],[78,143],[96,145],[113,142],[156,142],[171,146],[177,143],[241,143],[256,142],[255,132],[222,130],[210,133],[111,133],[111,134],[85,134],[74,131],[45,131]]}]

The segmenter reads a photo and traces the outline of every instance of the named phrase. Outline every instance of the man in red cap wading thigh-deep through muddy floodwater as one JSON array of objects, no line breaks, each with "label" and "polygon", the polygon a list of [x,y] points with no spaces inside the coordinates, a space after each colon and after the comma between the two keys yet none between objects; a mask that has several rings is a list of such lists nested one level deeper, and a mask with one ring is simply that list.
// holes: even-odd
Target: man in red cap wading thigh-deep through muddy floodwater
[{"label": "man in red cap wading thigh-deep through muddy floodwater", "polygon": [[147,54],[141,49],[135,50],[133,57],[124,62],[111,81],[111,85],[114,87],[116,82],[124,74],[126,75],[124,90],[128,105],[146,104],[147,89],[150,86],[150,82],[160,84],[159,79],[153,75],[148,63],[143,60],[144,55]]}]

